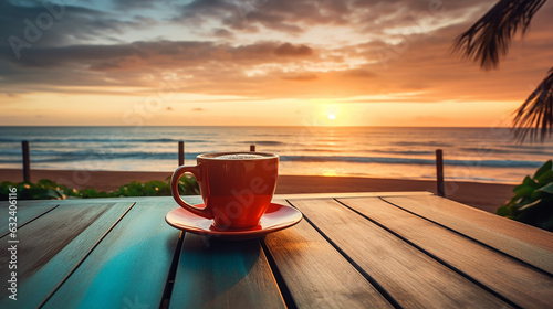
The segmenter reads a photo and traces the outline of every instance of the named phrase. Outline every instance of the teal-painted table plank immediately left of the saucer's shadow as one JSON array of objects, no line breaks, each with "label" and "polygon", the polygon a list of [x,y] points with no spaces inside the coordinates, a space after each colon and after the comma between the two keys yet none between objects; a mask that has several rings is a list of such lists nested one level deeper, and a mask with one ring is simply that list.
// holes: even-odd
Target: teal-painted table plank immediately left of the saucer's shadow
[{"label": "teal-painted table plank immediately left of the saucer's shadow", "polygon": [[138,202],[45,302],[44,308],[157,308],[179,231],[175,203]]}]

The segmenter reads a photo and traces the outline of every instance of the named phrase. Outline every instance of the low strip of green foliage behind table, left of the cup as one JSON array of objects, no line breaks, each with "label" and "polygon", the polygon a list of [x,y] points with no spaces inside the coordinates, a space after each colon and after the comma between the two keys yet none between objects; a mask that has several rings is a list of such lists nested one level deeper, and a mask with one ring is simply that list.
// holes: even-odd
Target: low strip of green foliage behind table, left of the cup
[{"label": "low strip of green foliage behind table, left of the cup", "polygon": [[[168,196],[171,194],[170,177],[166,181],[148,181],[140,183],[133,181],[119,187],[116,191],[96,191],[93,188],[76,190],[59,184],[52,180],[42,179],[36,183],[10,182],[0,183],[0,200],[6,201],[10,194],[10,188],[18,189],[19,200],[64,200],[64,199],[88,199],[88,198],[122,198],[122,196]],[[200,194],[198,182],[194,177],[181,177],[179,180],[179,192],[184,195]]]}]

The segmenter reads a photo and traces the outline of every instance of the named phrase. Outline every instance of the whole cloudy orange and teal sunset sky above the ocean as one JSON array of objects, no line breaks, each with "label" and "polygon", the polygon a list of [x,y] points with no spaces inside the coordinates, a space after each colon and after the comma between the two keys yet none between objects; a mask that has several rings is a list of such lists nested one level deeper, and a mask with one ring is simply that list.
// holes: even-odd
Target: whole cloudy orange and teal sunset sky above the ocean
[{"label": "whole cloudy orange and teal sunset sky above the ocean", "polygon": [[501,127],[553,65],[553,1],[493,71],[495,1],[0,1],[1,126]]}]

